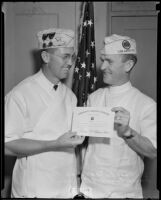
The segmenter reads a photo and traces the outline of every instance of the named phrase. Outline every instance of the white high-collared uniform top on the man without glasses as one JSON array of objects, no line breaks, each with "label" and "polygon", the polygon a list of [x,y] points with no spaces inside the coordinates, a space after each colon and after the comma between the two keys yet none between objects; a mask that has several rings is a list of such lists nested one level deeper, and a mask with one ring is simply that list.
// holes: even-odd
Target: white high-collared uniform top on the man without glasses
[{"label": "white high-collared uniform top on the man without glasses", "polygon": [[[89,97],[89,106],[123,107],[130,112],[130,127],[156,147],[156,102],[134,88],[101,88]],[[142,158],[116,131],[113,138],[89,138],[80,191],[90,198],[142,198]]]}]

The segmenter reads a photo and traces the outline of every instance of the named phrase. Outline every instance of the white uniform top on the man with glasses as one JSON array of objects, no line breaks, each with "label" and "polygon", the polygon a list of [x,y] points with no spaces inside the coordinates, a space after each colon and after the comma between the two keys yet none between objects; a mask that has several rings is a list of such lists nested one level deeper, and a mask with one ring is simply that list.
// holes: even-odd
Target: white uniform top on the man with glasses
[{"label": "white uniform top on the man with glasses", "polygon": [[[5,142],[19,138],[55,140],[71,129],[76,97],[64,84],[53,89],[40,70],[6,96]],[[17,158],[13,197],[71,198],[77,194],[74,148]]]}]

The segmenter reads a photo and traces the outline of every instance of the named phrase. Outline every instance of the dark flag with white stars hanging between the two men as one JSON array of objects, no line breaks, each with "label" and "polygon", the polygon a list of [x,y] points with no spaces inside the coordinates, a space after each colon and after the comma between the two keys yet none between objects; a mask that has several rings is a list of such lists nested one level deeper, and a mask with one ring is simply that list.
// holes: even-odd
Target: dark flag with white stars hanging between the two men
[{"label": "dark flag with white stars hanging between the two men", "polygon": [[88,95],[96,90],[96,83],[94,7],[93,2],[84,2],[72,88],[78,99],[77,106],[86,106]]}]

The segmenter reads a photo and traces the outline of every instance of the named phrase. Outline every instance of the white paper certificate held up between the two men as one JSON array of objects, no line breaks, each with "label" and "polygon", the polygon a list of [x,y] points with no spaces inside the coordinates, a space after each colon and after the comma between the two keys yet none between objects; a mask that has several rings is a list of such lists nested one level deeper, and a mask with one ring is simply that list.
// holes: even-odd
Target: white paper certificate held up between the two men
[{"label": "white paper certificate held up between the two men", "polygon": [[81,136],[112,137],[115,113],[108,107],[76,107],[72,131]]}]

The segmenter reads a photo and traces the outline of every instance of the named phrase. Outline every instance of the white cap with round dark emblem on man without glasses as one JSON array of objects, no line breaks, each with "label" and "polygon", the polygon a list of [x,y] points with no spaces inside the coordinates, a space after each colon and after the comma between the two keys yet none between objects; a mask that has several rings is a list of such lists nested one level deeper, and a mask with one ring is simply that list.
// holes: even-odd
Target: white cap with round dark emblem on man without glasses
[{"label": "white cap with round dark emblem on man without glasses", "polygon": [[134,39],[113,34],[104,39],[103,54],[137,54],[136,42]]}]

